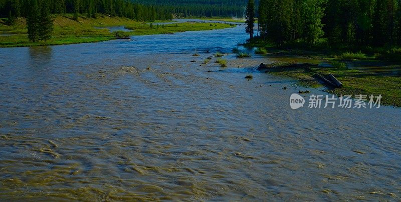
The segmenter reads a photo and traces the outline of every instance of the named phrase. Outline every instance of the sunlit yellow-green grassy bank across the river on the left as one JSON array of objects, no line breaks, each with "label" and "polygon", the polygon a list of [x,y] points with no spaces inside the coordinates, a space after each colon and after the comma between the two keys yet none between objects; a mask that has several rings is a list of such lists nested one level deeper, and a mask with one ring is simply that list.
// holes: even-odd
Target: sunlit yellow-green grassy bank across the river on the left
[{"label": "sunlit yellow-green grassy bank across the river on the left", "polygon": [[[147,35],[194,30],[212,30],[235,26],[235,24],[230,23],[213,22],[181,22],[164,24],[164,22],[171,22],[171,20],[155,20],[152,22],[144,22],[129,19],[126,17],[111,17],[104,14],[97,14],[96,18],[88,18],[86,15],[80,14],[78,15],[78,20],[74,20],[74,14],[53,15],[53,18],[53,37],[47,41],[36,42],[31,42],[28,39],[26,18],[17,18],[14,22],[14,25],[11,26],[7,25],[6,18],[0,18],[0,47],[100,42],[116,39],[116,33],[121,38],[121,36],[128,35]],[[132,29],[132,31],[110,32],[107,26],[124,26],[127,29]]]}]

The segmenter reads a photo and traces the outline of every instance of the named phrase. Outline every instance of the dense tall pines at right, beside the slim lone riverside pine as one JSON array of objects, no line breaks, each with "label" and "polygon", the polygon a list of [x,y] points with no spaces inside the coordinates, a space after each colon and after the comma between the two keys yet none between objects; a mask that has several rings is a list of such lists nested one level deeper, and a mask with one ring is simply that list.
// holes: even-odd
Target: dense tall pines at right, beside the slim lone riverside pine
[{"label": "dense tall pines at right, beside the slim lone riverside pine", "polygon": [[401,44],[401,0],[260,0],[259,33],[277,44]]}]

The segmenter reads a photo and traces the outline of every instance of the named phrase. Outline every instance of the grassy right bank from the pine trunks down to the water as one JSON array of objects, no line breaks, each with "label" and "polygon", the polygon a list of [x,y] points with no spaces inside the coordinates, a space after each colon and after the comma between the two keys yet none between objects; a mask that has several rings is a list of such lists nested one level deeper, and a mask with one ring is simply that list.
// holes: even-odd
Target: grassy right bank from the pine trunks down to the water
[{"label": "grassy right bank from the pine trunks down to the water", "polygon": [[[315,44],[287,43],[278,47],[261,40],[253,40],[244,44],[256,47],[256,53],[268,53],[277,57],[294,58],[303,56],[324,61],[327,65],[307,65],[297,67],[296,61],[275,63],[268,72],[275,75],[298,79],[309,87],[322,86],[316,73],[333,74],[344,86],[328,89],[337,95],[378,95],[381,94],[383,104],[401,106],[401,48],[372,48],[347,46],[330,46],[327,41]],[[298,65],[299,66],[299,65]]]}]

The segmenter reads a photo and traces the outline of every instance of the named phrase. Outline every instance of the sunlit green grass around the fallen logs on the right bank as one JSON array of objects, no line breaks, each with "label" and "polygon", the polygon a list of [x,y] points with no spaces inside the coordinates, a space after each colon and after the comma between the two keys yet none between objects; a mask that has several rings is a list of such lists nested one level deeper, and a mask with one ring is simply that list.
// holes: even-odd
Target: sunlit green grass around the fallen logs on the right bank
[{"label": "sunlit green grass around the fallen logs on the right bank", "polygon": [[[342,64],[341,64],[342,66]],[[388,66],[388,68],[392,68]],[[333,94],[343,95],[379,95],[382,104],[401,106],[401,77],[392,74],[360,71],[356,69],[309,66],[308,68],[292,67],[280,64],[270,68],[269,73],[295,78],[304,86],[318,87],[321,84],[313,77],[316,73],[321,75],[333,74],[344,86],[327,90]]]}]

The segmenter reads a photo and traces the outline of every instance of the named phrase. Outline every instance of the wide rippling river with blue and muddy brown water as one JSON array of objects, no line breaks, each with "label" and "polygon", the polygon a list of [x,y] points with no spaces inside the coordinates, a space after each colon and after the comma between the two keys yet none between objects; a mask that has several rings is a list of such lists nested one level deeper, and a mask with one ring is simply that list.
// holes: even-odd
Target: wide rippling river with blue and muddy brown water
[{"label": "wide rippling river with blue and muddy brown water", "polygon": [[400,200],[401,109],[293,110],[253,68],[280,58],[199,66],[244,28],[0,48],[0,198]]}]

